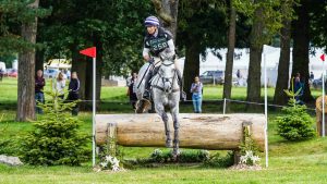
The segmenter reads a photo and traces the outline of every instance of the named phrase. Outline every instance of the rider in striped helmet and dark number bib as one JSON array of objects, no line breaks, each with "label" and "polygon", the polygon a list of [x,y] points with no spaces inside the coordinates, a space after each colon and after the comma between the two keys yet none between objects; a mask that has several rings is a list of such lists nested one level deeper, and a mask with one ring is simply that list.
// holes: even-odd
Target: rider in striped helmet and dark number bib
[{"label": "rider in striped helmet and dark number bib", "polygon": [[[147,29],[147,34],[144,38],[144,49],[143,49],[143,58],[145,61],[150,64],[156,64],[159,61],[159,57],[165,54],[172,60],[175,58],[174,45],[172,40],[172,36],[170,33],[165,30],[159,25],[159,20],[156,16],[148,16],[144,21],[145,27]],[[154,69],[152,68],[145,77],[145,91],[143,94],[143,98],[149,100],[149,81],[154,75]],[[182,76],[179,70],[177,70],[177,75],[179,79],[179,85],[182,90]],[[181,91],[182,94],[182,91]]]}]

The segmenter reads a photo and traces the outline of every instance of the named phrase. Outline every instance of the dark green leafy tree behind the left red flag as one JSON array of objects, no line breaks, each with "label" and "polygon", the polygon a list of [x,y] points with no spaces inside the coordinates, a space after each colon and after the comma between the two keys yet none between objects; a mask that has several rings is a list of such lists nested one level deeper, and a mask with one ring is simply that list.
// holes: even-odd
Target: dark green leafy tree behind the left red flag
[{"label": "dark green leafy tree behind the left red flag", "polygon": [[[80,5],[85,4],[85,5]],[[92,99],[92,62],[78,50],[97,47],[97,99],[100,99],[101,76],[126,75],[143,63],[143,20],[153,14],[146,0],[48,1],[51,16],[44,22],[41,40],[45,58],[72,58],[72,70],[81,79],[81,96]]]}]

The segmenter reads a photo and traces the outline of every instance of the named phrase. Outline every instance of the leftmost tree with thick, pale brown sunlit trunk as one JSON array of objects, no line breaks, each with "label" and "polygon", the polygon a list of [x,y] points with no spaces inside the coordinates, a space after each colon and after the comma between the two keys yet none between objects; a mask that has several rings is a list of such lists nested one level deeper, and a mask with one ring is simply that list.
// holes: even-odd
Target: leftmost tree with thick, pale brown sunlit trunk
[{"label": "leftmost tree with thick, pale brown sunlit trunk", "polygon": [[[3,36],[0,40],[2,51],[12,53],[20,51],[19,57],[19,99],[17,99],[17,121],[35,119],[35,95],[34,95],[34,64],[35,64],[35,37],[37,27],[37,17],[45,16],[46,10],[38,9],[38,0],[35,1],[4,1],[1,3],[2,17],[8,22],[1,26]],[[3,16],[4,15],[4,16]],[[12,21],[12,22],[11,22]],[[10,25],[13,23],[15,25]],[[21,37],[13,36],[10,28],[21,27]],[[19,28],[20,29],[20,28]],[[0,51],[1,52],[1,51]]]}]

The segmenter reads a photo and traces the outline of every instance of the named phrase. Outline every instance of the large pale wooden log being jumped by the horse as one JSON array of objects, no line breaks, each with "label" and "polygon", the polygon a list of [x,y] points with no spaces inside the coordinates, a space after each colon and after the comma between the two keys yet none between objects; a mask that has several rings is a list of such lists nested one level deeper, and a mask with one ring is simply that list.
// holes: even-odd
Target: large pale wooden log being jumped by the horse
[{"label": "large pale wooden log being jumped by the horse", "polygon": [[[170,132],[173,126],[170,118]],[[211,150],[238,150],[243,127],[250,124],[253,139],[261,150],[265,146],[264,114],[180,114],[180,147]],[[109,137],[121,146],[165,147],[165,127],[157,114],[97,114],[96,144]]]}]

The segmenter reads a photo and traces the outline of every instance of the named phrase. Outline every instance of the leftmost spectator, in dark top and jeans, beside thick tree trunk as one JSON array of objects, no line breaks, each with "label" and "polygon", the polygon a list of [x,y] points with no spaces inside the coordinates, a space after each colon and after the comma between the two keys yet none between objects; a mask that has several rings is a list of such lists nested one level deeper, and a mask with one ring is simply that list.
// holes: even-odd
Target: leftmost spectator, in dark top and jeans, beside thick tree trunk
[{"label": "leftmost spectator, in dark top and jeans, beside thick tree trunk", "polygon": [[[41,70],[38,70],[35,77],[35,101],[36,105],[38,102],[45,103],[45,95],[44,95],[44,87],[46,85],[46,81],[44,78],[44,72]],[[36,113],[43,114],[44,111],[41,108],[36,106]]]}]

